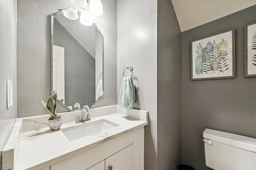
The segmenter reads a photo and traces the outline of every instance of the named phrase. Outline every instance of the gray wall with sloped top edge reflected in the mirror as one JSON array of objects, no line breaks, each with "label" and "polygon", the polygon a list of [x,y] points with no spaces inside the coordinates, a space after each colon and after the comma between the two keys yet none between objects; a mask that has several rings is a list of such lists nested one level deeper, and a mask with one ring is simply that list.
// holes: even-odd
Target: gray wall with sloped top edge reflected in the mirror
[{"label": "gray wall with sloped top edge reflected in the mirror", "polygon": [[65,105],[91,106],[95,102],[95,59],[55,19],[53,41],[53,45],[64,47]]}]

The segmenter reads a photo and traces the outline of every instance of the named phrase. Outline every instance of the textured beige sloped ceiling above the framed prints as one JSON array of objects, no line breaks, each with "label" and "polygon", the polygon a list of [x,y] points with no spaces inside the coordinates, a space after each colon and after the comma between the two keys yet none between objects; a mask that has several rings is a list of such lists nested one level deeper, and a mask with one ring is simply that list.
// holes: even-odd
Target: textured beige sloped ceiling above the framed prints
[{"label": "textured beige sloped ceiling above the framed prints", "polygon": [[256,0],[172,0],[172,4],[183,32],[256,5]]}]

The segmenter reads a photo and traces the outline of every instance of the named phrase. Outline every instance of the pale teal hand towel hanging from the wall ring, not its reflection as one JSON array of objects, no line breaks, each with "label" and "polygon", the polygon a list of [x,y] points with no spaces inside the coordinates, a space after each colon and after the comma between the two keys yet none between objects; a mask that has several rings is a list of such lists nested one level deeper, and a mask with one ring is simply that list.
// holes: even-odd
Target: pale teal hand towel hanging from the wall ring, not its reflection
[{"label": "pale teal hand towel hanging from the wall ring, not its reflection", "polygon": [[118,105],[126,109],[133,109],[135,102],[135,88],[131,77],[124,77],[118,99]]}]

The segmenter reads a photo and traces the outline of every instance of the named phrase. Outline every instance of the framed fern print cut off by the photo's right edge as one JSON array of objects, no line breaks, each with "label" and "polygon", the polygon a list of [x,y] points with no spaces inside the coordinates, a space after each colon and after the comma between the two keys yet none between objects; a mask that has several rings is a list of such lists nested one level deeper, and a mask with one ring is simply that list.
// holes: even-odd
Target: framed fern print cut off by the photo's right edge
[{"label": "framed fern print cut off by the photo's right edge", "polygon": [[244,77],[256,77],[256,21],[244,26]]}]

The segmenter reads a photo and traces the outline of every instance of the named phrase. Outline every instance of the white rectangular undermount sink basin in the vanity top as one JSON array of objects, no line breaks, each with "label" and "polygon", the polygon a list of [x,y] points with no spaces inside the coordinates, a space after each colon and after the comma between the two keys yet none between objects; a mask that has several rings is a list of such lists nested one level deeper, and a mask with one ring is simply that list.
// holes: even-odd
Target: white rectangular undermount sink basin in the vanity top
[{"label": "white rectangular undermount sink basin in the vanity top", "polygon": [[118,126],[116,123],[101,119],[93,122],[80,123],[80,125],[75,125],[72,127],[66,127],[61,129],[64,135],[68,138],[69,141],[79,139],[112,127]]}]

